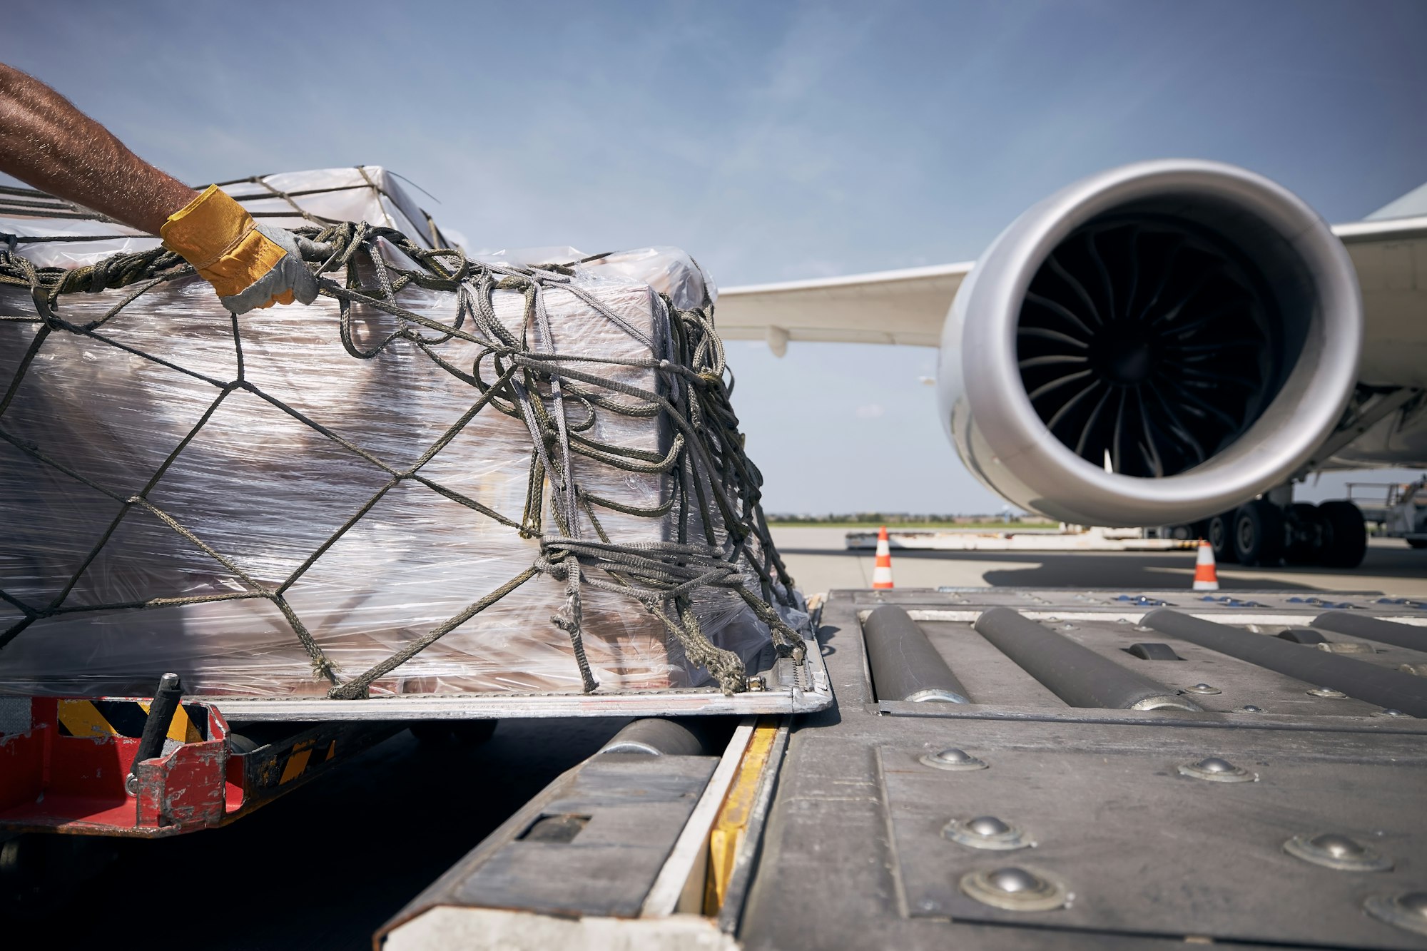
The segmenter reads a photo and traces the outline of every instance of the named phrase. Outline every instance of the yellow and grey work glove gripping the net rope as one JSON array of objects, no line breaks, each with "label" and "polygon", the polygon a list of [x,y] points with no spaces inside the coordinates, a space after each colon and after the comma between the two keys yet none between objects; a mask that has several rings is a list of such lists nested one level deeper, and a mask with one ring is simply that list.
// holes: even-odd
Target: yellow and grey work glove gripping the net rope
[{"label": "yellow and grey work glove gripping the net rope", "polygon": [[158,234],[164,247],[213,284],[218,300],[234,314],[317,300],[317,277],[303,263],[297,236],[258,224],[218,186],[208,186],[168,216]]}]

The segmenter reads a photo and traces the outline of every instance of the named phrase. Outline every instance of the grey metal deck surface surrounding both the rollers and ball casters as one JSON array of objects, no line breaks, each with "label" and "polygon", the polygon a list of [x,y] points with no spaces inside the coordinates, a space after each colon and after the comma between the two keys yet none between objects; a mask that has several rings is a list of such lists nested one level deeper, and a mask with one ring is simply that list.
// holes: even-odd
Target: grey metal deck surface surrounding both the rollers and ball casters
[{"label": "grey metal deck surface surrounding both the rollers and ball casters", "polygon": [[[1364,910],[1371,897],[1427,891],[1427,721],[1309,693],[1317,684],[1137,630],[1164,604],[1254,638],[1307,627],[1327,610],[1427,624],[1427,610],[1378,598],[833,593],[822,641],[838,710],[802,718],[791,738],[739,938],[746,948],[899,951],[1170,948],[1186,940],[1427,948],[1427,935]],[[875,695],[860,617],[886,603],[918,620],[972,703]],[[1202,711],[1069,707],[973,628],[990,607],[1012,607],[1170,693],[1200,683],[1212,690],[1186,694]],[[1333,644],[1361,644],[1347,655],[1384,671],[1427,663],[1427,653],[1320,633]],[[1137,643],[1166,644],[1183,660],[1137,657],[1127,651]],[[940,770],[920,760],[948,747],[986,768]],[[1179,773],[1216,755],[1257,781]],[[1023,827],[1036,845],[990,851],[943,835],[948,821],[979,815]],[[1340,871],[1284,852],[1284,842],[1304,832],[1347,835],[1393,867]],[[1066,905],[1007,910],[962,887],[969,872],[1005,867],[1060,882]]]}]

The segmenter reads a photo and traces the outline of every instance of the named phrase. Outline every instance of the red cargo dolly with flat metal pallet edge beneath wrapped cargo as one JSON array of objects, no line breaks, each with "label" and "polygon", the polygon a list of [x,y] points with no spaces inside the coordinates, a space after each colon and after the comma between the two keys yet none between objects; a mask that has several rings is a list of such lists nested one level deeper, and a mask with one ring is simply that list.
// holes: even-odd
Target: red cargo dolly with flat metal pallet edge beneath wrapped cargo
[{"label": "red cargo dolly with flat metal pallet edge beneath wrapped cargo", "polygon": [[732,695],[706,687],[370,700],[184,697],[164,728],[163,748],[143,763],[136,755],[148,697],[0,698],[0,834],[154,837],[225,825],[408,725],[788,715],[832,705],[816,651],[766,654],[752,678],[759,688]]}]

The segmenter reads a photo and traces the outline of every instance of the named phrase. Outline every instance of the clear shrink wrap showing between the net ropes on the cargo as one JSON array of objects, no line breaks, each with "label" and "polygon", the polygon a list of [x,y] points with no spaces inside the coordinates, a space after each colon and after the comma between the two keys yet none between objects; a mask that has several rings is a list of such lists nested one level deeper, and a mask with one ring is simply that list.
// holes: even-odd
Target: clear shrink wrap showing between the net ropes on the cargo
[{"label": "clear shrink wrap showing between the net ropes on the cargo", "polygon": [[[294,198],[323,217],[377,218],[412,237],[432,233],[412,220],[418,211],[402,211],[402,206],[415,206],[381,170],[367,168],[374,186],[364,187],[351,186],[352,171],[294,173],[268,181],[281,180],[277,187],[293,191],[344,188]],[[287,200],[271,201],[291,207]],[[278,223],[295,226],[301,220]],[[120,233],[93,221],[0,221],[0,231],[21,234],[93,234],[97,228]],[[110,244],[21,248],[41,264],[76,266],[111,254],[117,244]],[[390,246],[385,251],[400,257]],[[571,254],[578,257],[578,251]],[[499,253],[489,260],[519,257]],[[704,296],[698,267],[671,248],[609,256],[578,268],[574,280],[648,337],[652,348],[559,288],[545,293],[554,340],[541,341],[537,328],[522,327],[519,293],[497,291],[497,314],[517,336],[524,330],[547,351],[648,360],[662,357],[668,341],[668,314],[654,288],[671,294],[679,307],[698,304]],[[84,323],[131,293],[68,294],[59,313]],[[444,323],[455,311],[455,294],[417,287],[402,290],[398,303]],[[0,288],[0,316],[33,314],[26,291]],[[338,310],[331,298],[321,297],[305,308],[253,311],[237,323],[245,380],[392,468],[414,464],[479,397],[407,340],[394,341],[371,360],[351,357],[338,340]],[[395,323],[355,306],[352,326],[355,343],[371,347]],[[21,371],[39,327],[0,321],[0,393]],[[116,523],[121,503],[83,480],[126,498],[153,481],[147,498],[157,508],[268,590],[317,554],[285,597],[334,661],[340,681],[385,660],[535,561],[538,540],[521,538],[515,528],[410,480],[381,495],[323,550],[391,477],[260,396],[223,388],[238,376],[234,328],[203,280],[180,280],[144,293],[100,333],[111,343],[50,333],[0,414],[0,430],[14,440],[0,441],[0,591],[36,608],[56,603],[66,608],[108,607],[61,613],[26,627],[0,648],[0,693],[147,691],[170,670],[183,677],[187,691],[201,695],[320,695],[331,685],[314,675],[288,618],[265,598],[137,607],[153,598],[241,595],[251,585],[143,507],[131,505]],[[479,347],[451,340],[437,351],[469,371]],[[648,368],[588,366],[645,390],[662,386]],[[489,363],[485,371],[494,376]],[[588,436],[658,453],[671,444],[662,416],[596,410]],[[14,443],[53,464],[37,461]],[[488,406],[421,471],[519,523],[531,448],[525,424]],[[629,473],[582,456],[574,457],[574,471],[589,493],[626,505],[669,501],[668,476]],[[544,504],[545,530],[552,531],[548,498]],[[596,511],[612,541],[672,540],[672,514],[649,518]],[[588,527],[585,531],[592,535]],[[722,531],[718,534],[715,544],[723,541]],[[756,577],[751,570],[745,574],[756,594]],[[537,574],[377,680],[371,693],[578,693],[581,678],[569,637],[551,624],[565,603],[564,587]],[[781,613],[806,630],[805,615],[791,608]],[[769,650],[768,628],[731,591],[701,591],[695,614],[716,645],[745,663]],[[0,631],[20,620],[13,604],[0,601]],[[688,667],[678,644],[638,601],[588,585],[584,643],[601,690],[708,680],[706,671]]]}]

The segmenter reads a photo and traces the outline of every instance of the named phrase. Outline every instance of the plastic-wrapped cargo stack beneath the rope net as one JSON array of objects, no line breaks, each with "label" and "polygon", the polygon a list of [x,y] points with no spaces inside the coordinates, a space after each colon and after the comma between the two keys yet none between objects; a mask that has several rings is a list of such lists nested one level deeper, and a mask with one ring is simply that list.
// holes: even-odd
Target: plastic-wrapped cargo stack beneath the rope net
[{"label": "plastic-wrapped cargo stack beneath the rope net", "polygon": [[[571,625],[601,690],[708,683],[686,655],[701,637],[739,690],[728,658],[756,664],[769,624],[805,624],[766,533],[725,527],[761,521],[741,447],[708,434],[698,400],[692,427],[649,408],[722,386],[669,361],[681,311],[714,294],[692,260],[501,253],[482,281],[384,297],[415,248],[444,244],[387,173],[225,187],[284,227],[365,220],[414,244],[370,240],[345,307],[238,318],[193,276],[91,277],[51,298],[50,326],[31,288],[0,286],[0,693],[143,693],[170,670],[200,695],[578,693]],[[36,267],[157,244],[6,213]],[[716,488],[709,453],[751,471]],[[684,580],[662,607],[628,593]]]}]

